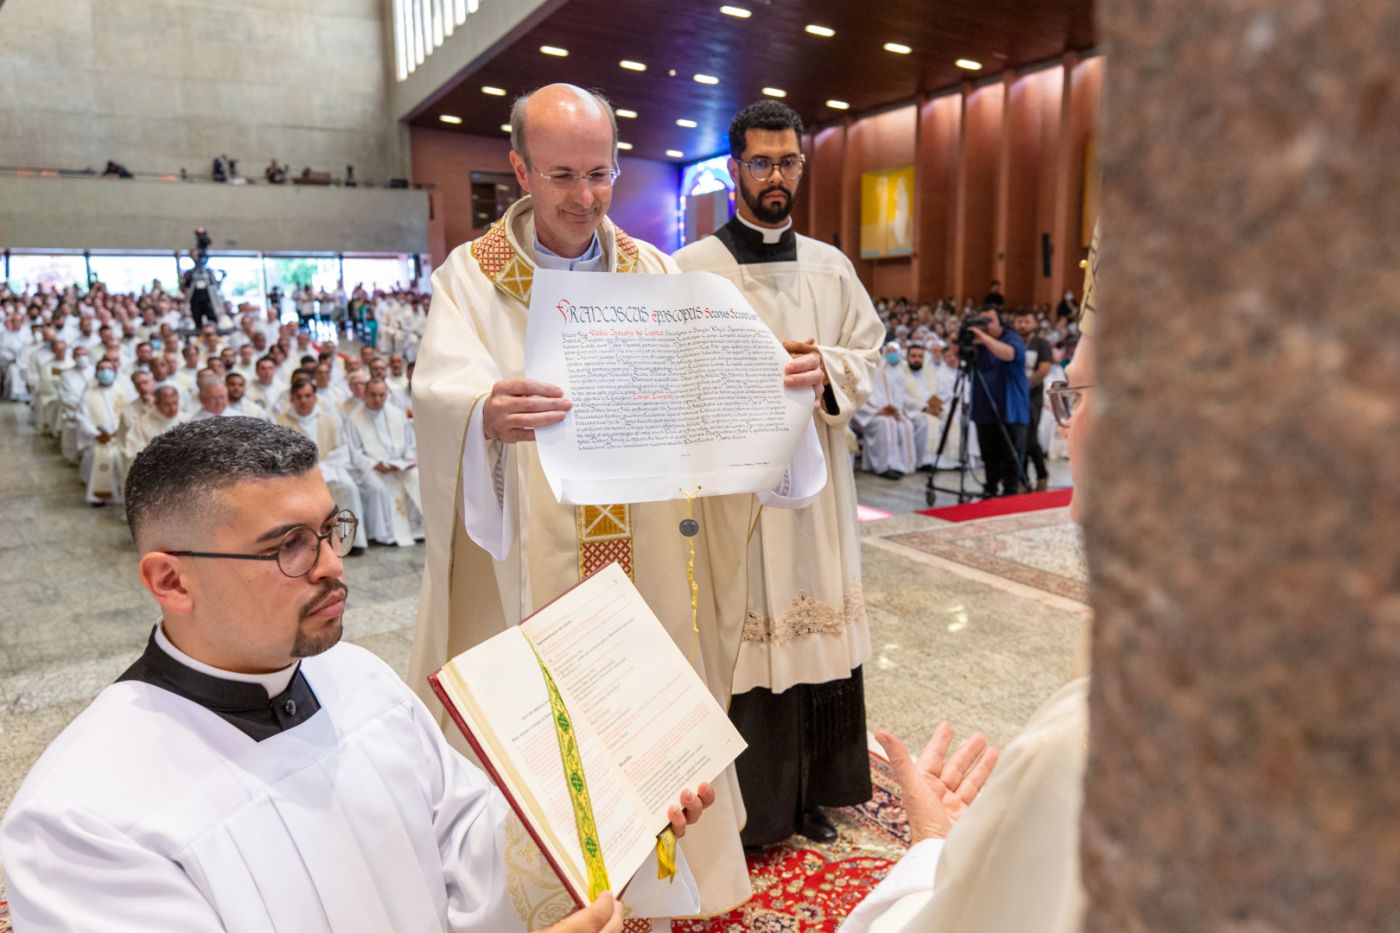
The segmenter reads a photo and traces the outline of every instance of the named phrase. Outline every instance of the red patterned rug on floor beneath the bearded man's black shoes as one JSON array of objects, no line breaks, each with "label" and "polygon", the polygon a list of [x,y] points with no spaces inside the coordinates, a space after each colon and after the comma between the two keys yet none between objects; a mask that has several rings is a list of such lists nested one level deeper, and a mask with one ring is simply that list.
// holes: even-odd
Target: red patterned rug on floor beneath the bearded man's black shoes
[{"label": "red patterned rug on floor beneath the bearded man's black shoes", "polygon": [[708,920],[672,925],[672,933],[834,933],[909,849],[909,821],[889,765],[871,756],[874,797],[829,810],[841,838],[830,845],[794,838],[749,857],[753,898]]}]

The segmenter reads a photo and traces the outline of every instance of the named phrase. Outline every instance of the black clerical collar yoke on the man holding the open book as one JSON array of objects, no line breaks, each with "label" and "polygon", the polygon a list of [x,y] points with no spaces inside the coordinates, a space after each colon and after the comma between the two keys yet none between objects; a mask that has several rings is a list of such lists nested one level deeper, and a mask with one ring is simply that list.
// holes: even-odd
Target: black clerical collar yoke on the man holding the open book
[{"label": "black clerical collar yoke on the man holding the open book", "polygon": [[321,709],[300,667],[287,689],[269,698],[262,684],[230,681],[181,664],[155,643],[155,632],[141,657],[116,678],[123,681],[150,684],[197,703],[256,742],[301,726]]}]

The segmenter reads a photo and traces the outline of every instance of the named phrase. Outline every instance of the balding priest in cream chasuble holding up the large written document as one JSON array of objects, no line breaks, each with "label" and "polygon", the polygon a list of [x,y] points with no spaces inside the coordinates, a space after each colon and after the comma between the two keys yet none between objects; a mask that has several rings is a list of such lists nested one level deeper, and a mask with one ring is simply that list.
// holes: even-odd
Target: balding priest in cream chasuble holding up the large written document
[{"label": "balding priest in cream chasuble holding up the large written document", "polygon": [[[692,640],[689,548],[678,531],[686,503],[559,503],[533,440],[535,429],[564,419],[570,402],[557,387],[524,378],[536,268],[671,273],[676,266],[606,217],[617,178],[616,120],[606,101],[573,85],[549,85],[517,101],[511,126],[510,160],[528,195],[434,273],[413,378],[428,558],[409,682],[454,742],[461,741],[456,728],[428,692],[427,675],[609,563],[633,577],[682,650]],[[785,384],[819,385],[816,366],[815,354],[795,360]],[[696,576],[708,593],[704,524]],[[724,703],[728,667],[710,600],[697,611],[699,674]],[[704,825],[683,845],[701,915],[727,912],[750,895],[738,834],[742,804],[728,775],[717,782],[718,800]],[[526,919],[552,916],[563,902],[547,869],[535,878],[525,878],[528,890],[517,901]]]}]

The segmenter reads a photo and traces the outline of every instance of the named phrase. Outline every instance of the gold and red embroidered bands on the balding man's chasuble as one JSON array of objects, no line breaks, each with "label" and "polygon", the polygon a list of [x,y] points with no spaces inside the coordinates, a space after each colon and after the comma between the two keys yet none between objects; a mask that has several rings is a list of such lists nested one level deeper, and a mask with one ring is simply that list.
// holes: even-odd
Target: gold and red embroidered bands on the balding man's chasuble
[{"label": "gold and red embroidered bands on the balding man's chasuble", "polygon": [[[617,272],[636,270],[640,255],[637,244],[616,226],[612,230]],[[497,220],[486,235],[472,242],[472,258],[491,284],[529,307],[535,265],[511,245],[505,231],[505,217]],[[636,580],[631,506],[578,506],[574,510],[574,520],[578,527],[580,580],[613,562],[622,566],[629,579]]]}]

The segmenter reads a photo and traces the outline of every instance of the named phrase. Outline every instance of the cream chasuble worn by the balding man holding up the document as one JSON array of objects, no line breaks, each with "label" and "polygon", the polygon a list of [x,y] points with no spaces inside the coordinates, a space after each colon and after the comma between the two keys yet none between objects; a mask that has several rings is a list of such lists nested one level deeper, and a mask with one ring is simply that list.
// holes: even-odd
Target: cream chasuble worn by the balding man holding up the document
[{"label": "cream chasuble worn by the balding man holding up the document", "polygon": [[[531,212],[531,199],[522,198],[484,237],[452,251],[433,275],[433,305],[413,374],[428,558],[409,684],[463,752],[466,742],[431,695],[427,675],[610,562],[633,577],[675,642],[692,654],[687,539],[678,530],[686,517],[685,503],[582,509],[560,504],[549,490],[535,444],[494,444],[480,434],[482,402],[491,385],[525,377],[525,325],[535,270]],[[655,247],[634,241],[606,219],[598,228],[598,244],[603,270],[676,270]],[[463,454],[472,431],[479,434],[470,440],[480,466],[466,471]],[[484,502],[486,509],[463,511],[463,496]],[[463,518],[493,510],[496,546],[501,542],[501,521],[512,531],[501,560],[493,560],[473,539],[490,539],[493,534]],[[706,524],[700,517],[696,538],[696,574],[703,593],[710,590]],[[727,696],[728,670],[711,664],[720,656],[708,600],[700,600],[699,612],[701,644],[692,656],[711,691]],[[750,895],[739,845],[743,811],[732,775],[732,769],[727,770],[715,782],[715,804],[680,842],[699,883],[703,915],[727,912]],[[512,836],[507,852],[511,894],[526,925],[559,919],[570,905],[561,885],[514,820],[507,832]]]}]

